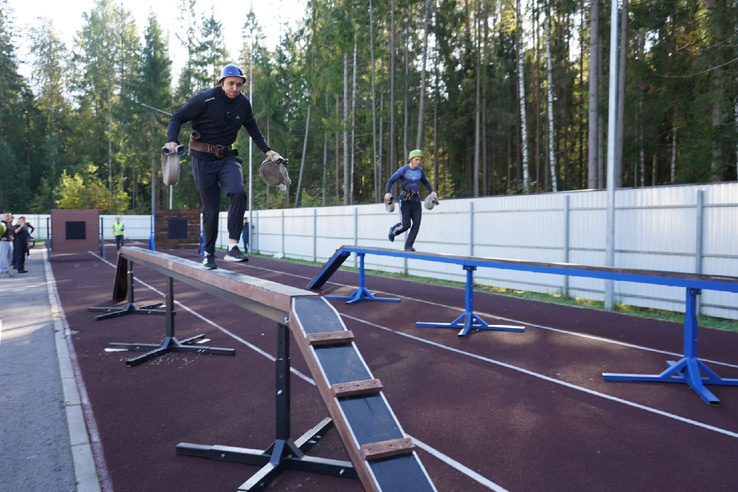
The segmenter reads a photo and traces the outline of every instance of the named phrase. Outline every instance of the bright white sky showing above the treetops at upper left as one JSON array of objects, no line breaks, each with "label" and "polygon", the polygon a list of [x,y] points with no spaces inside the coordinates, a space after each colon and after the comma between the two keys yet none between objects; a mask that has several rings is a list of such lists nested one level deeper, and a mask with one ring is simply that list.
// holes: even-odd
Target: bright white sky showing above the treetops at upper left
[{"label": "bright white sky showing above the treetops at upper left", "polygon": [[[177,5],[179,0],[117,0],[123,7],[133,13],[138,26],[139,36],[143,39],[149,13],[153,10],[165,36],[169,36],[169,56],[173,62],[173,74],[179,73],[186,59],[186,52],[176,37],[176,30],[180,27]],[[117,3],[117,2],[116,2]],[[258,24],[265,35],[264,44],[273,49],[279,42],[280,33],[285,23],[291,27],[304,17],[307,0],[260,0],[260,1],[224,1],[224,0],[197,0],[196,11],[206,18],[212,8],[216,18],[222,22],[228,51],[235,57],[241,46],[241,28],[246,22],[246,15],[253,6]],[[82,29],[84,19],[82,14],[90,12],[95,5],[94,0],[8,0],[8,7],[13,10],[14,25],[21,33],[16,40],[18,58],[21,61],[28,59],[28,41],[24,35],[29,27],[39,25],[39,17],[48,17],[52,20],[54,30],[60,39],[71,51],[75,34]],[[171,19],[167,21],[166,19]],[[169,23],[170,25],[167,25]],[[245,69],[245,67],[242,67]],[[20,73],[29,76],[31,67],[28,64],[20,66]]]}]

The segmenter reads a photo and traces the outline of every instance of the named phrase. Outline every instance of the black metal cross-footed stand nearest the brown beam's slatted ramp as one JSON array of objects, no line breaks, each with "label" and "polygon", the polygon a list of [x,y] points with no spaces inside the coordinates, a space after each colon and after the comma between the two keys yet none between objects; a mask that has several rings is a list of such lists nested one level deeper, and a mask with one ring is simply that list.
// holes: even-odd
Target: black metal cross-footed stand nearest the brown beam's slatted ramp
[{"label": "black metal cross-footed stand nearest the brown beam's slatted ramp", "polygon": [[290,438],[290,356],[289,328],[278,325],[277,346],[277,439],[262,451],[259,449],[231,446],[207,446],[202,444],[180,443],[177,454],[195,456],[219,461],[230,461],[261,466],[239,491],[264,490],[284,470],[298,470],[343,478],[359,478],[350,461],[330,460],[305,456],[322,436],[333,427],[330,418],[303,434],[297,441]]}]

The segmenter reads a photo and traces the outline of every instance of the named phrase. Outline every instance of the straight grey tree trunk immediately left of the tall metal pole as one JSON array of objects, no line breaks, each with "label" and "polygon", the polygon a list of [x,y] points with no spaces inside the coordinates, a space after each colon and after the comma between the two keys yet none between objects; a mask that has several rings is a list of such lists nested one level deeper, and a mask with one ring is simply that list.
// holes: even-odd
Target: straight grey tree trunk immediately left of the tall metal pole
[{"label": "straight grey tree trunk immediately left of the tall metal pole", "polygon": [[589,143],[587,187],[599,188],[600,0],[591,0],[589,19]]}]

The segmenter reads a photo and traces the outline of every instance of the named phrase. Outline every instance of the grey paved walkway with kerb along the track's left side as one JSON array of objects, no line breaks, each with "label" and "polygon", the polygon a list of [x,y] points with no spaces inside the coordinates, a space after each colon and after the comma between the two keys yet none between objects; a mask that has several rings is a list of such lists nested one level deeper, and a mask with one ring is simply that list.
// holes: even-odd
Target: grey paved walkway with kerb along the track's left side
[{"label": "grey paved walkway with kerb along the track's left side", "polygon": [[43,245],[26,269],[0,278],[0,491],[99,491]]}]

